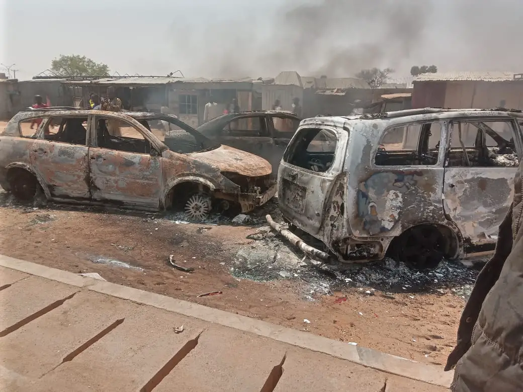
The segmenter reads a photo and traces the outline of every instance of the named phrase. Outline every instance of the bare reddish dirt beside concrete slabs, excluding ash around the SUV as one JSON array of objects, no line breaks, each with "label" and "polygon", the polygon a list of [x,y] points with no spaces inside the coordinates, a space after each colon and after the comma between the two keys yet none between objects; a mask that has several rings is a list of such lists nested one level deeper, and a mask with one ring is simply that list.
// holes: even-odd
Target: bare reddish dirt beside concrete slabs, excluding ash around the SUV
[{"label": "bare reddish dirt beside concrete slabs, excluding ash around the SUV", "polygon": [[[154,215],[93,212],[82,207],[35,211],[2,206],[0,213],[0,253],[7,256],[74,273],[98,272],[110,282],[357,342],[420,362],[444,364],[456,342],[464,301],[451,294],[401,293],[390,299],[378,291],[369,296],[347,289],[311,302],[303,298],[300,281],[235,279],[229,273],[235,249],[252,243],[245,237],[254,233],[254,228],[177,225],[154,221]],[[46,214],[53,220],[33,222]],[[169,254],[195,272],[173,269],[167,264]],[[97,264],[90,256],[118,259],[144,271]],[[213,291],[223,294],[197,298]],[[336,303],[340,296],[346,296],[346,301]]]}]

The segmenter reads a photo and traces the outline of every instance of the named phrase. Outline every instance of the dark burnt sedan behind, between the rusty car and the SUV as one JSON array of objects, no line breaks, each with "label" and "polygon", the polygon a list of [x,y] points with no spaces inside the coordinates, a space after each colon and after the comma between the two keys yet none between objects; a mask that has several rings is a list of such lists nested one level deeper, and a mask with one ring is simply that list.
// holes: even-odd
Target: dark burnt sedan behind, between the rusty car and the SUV
[{"label": "dark burnt sedan behind, between the rusty car and the SUV", "polygon": [[[274,177],[283,151],[298,129],[300,119],[289,111],[252,111],[222,114],[197,128],[209,139],[267,159]],[[165,143],[177,136],[165,137]]]}]

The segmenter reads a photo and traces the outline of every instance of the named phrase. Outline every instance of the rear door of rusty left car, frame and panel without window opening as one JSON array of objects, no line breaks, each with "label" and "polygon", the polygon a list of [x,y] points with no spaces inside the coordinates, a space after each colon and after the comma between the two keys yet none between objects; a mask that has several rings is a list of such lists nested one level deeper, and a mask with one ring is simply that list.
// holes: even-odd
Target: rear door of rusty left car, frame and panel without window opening
[{"label": "rear door of rusty left car, frame and panel without window opening", "polygon": [[[29,159],[31,168],[49,192],[48,196],[56,201],[91,200],[89,182],[89,127],[88,113],[46,114],[35,134],[35,143],[31,145]],[[44,129],[53,119],[87,118],[85,145],[46,140]],[[67,170],[69,168],[69,170]]]}]

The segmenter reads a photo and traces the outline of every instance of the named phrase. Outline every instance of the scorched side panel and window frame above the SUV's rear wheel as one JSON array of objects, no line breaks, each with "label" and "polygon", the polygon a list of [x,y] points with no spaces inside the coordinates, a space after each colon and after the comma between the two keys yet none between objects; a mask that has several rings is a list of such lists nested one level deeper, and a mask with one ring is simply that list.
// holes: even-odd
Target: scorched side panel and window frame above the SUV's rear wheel
[{"label": "scorched side panel and window frame above the SUV's rear wheel", "polygon": [[[419,155],[422,140],[426,137],[426,132],[430,132],[426,124],[439,124],[441,127],[435,164],[376,163],[380,154],[379,145],[387,133],[395,128],[420,125],[414,150]],[[379,135],[377,145],[370,146],[370,149],[366,146],[370,142],[365,138],[361,140],[363,151],[370,150],[368,158],[365,158],[369,160],[369,166],[356,173],[351,172],[351,167],[346,168],[349,176],[357,179],[357,183],[353,184],[354,212],[350,216],[350,229],[355,237],[397,237],[406,229],[419,224],[445,223],[441,192],[446,126],[446,121],[442,119],[408,120],[387,124]],[[355,143],[351,148],[361,148],[361,144]],[[358,154],[350,151],[349,155]]]}]

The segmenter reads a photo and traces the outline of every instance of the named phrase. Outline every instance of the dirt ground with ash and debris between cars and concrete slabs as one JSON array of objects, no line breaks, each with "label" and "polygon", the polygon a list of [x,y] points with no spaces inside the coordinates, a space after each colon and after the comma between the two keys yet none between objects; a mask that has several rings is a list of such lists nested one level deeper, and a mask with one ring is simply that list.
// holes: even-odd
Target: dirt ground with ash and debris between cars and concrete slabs
[{"label": "dirt ground with ash and debris between cars and concrete slabs", "polygon": [[[395,267],[384,264],[320,271],[271,237],[263,213],[248,226],[220,218],[186,223],[174,215],[82,206],[37,209],[0,191],[0,253],[74,273],[98,272],[110,282],[445,363],[456,342],[464,287],[476,272],[450,264],[423,275],[402,270],[396,278]],[[194,272],[174,269],[169,255]],[[394,279],[380,278],[385,270]],[[214,291],[222,294],[197,298]]]}]

